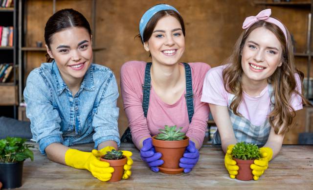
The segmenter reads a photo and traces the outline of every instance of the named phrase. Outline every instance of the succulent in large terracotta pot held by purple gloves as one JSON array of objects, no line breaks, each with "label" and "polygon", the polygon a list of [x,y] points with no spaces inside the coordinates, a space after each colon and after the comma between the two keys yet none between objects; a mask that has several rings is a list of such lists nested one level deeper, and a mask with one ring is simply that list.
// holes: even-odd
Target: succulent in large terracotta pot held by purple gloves
[{"label": "succulent in large terracotta pot held by purple gloves", "polygon": [[161,133],[152,137],[156,152],[162,154],[161,160],[164,164],[158,168],[163,173],[176,174],[183,171],[183,168],[179,167],[179,159],[189,144],[189,138],[180,132],[181,129],[182,127],[177,130],[176,125],[165,125],[164,129],[159,129]]}]

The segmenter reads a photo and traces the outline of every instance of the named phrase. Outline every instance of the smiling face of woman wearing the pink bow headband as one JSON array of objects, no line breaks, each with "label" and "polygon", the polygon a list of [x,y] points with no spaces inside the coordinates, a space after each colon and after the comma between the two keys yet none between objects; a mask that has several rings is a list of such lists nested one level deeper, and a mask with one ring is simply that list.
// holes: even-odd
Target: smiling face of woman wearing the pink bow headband
[{"label": "smiling face of woman wearing the pink bow headband", "polygon": [[282,47],[277,37],[265,27],[254,29],[242,50],[241,66],[245,82],[267,82],[282,65]]}]

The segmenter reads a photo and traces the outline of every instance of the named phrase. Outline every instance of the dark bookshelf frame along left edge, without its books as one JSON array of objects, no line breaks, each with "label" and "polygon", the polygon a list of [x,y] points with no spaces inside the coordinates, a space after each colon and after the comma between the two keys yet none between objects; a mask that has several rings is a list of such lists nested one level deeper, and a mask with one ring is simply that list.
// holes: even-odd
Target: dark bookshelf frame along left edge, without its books
[{"label": "dark bookshelf frame along left edge, without its books", "polygon": [[[18,105],[18,80],[16,71],[18,69],[18,3],[14,1],[10,7],[0,7],[0,26],[13,26],[12,44],[0,46],[0,63],[12,63],[12,73],[6,82],[0,82],[0,109],[1,115],[13,116],[17,118],[17,105]],[[2,28],[3,29],[3,28]],[[0,36],[2,37],[2,36]],[[9,36],[8,36],[9,37]],[[2,40],[2,38],[1,38]],[[9,40],[9,39],[8,39]],[[9,41],[8,41],[9,42]],[[11,113],[13,107],[13,114]]]}]

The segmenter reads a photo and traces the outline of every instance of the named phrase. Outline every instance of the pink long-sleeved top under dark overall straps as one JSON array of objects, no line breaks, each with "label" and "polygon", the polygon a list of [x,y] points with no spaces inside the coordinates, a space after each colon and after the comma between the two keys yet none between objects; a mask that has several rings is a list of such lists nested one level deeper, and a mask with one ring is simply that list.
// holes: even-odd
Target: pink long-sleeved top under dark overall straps
[{"label": "pink long-sleeved top under dark overall straps", "polygon": [[164,103],[153,89],[151,84],[150,100],[147,119],[142,109],[142,84],[146,62],[126,62],[121,69],[121,93],[124,102],[129,127],[132,132],[133,142],[139,147],[143,137],[151,137],[159,133],[158,129],[164,125],[177,125],[183,127],[186,136],[196,139],[202,145],[206,121],[209,116],[208,104],[201,102],[202,86],[205,73],[210,66],[205,63],[189,63],[192,75],[192,90],[194,93],[194,115],[189,123],[186,100],[184,94],[172,105]]}]

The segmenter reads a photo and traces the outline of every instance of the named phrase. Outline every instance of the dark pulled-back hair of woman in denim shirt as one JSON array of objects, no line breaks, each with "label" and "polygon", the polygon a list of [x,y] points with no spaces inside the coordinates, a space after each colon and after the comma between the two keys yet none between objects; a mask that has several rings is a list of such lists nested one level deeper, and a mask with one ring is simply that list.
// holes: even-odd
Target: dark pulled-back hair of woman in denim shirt
[{"label": "dark pulled-back hair of woman in denim shirt", "polygon": [[[85,28],[91,36],[91,29],[87,19],[80,12],[74,9],[62,9],[54,13],[45,24],[45,44],[50,49],[53,34],[70,27]],[[52,62],[49,54],[45,55],[46,62]]]}]

